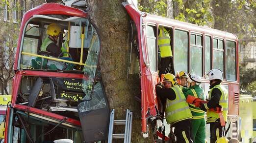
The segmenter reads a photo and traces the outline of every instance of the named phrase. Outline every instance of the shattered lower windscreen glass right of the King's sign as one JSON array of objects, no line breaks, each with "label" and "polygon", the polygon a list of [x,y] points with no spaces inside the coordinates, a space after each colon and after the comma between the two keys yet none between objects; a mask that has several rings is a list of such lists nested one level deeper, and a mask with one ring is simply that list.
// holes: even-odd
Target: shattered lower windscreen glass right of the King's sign
[{"label": "shattered lower windscreen glass right of the King's sign", "polygon": [[92,100],[79,103],[79,112],[106,108],[106,101],[103,94],[102,83],[98,82],[94,86]]}]

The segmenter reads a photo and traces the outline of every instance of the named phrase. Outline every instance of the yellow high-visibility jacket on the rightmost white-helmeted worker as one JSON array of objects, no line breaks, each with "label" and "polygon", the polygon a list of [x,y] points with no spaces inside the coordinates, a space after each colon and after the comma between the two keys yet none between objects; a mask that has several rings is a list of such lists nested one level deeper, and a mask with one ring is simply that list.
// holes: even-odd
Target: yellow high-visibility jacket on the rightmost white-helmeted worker
[{"label": "yellow high-visibility jacket on the rightmost white-helmeted worker", "polygon": [[[228,101],[229,101],[229,94],[228,94],[228,91],[221,84],[215,85],[209,91],[209,99],[211,99],[211,92],[212,92],[212,90],[214,88],[218,88],[221,91],[221,97],[220,97],[219,104],[223,108],[222,114],[223,114],[225,122],[227,122],[228,110],[229,110],[229,103],[228,103]],[[215,122],[217,119],[220,118],[218,113],[209,110],[209,108],[207,107],[207,104],[205,104],[205,108],[207,109],[207,111],[206,111],[207,123]]]}]

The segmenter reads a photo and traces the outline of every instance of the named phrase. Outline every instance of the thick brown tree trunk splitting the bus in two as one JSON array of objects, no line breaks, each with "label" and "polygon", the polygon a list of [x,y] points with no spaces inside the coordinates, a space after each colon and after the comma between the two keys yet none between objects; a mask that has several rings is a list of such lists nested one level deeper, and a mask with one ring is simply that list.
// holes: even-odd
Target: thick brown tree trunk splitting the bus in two
[{"label": "thick brown tree trunk splitting the bus in two", "polygon": [[122,5],[124,0],[87,1],[101,40],[100,67],[110,109],[115,109],[115,119],[125,119],[127,108],[133,112],[132,143],[153,143],[152,138],[143,139],[141,134],[141,105],[134,100],[139,94],[138,75],[127,79],[130,19]]}]

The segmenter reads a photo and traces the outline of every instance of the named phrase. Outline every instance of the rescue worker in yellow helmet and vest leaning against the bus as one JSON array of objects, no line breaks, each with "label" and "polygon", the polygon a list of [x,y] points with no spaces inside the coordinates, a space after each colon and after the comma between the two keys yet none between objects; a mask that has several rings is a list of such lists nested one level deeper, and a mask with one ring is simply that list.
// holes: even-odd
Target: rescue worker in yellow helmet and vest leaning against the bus
[{"label": "rescue worker in yellow helmet and vest leaning against the bus", "polygon": [[191,134],[192,114],[175,76],[167,73],[164,76],[163,84],[160,82],[156,84],[156,94],[161,99],[166,99],[166,122],[174,127],[177,143],[193,143]]}]

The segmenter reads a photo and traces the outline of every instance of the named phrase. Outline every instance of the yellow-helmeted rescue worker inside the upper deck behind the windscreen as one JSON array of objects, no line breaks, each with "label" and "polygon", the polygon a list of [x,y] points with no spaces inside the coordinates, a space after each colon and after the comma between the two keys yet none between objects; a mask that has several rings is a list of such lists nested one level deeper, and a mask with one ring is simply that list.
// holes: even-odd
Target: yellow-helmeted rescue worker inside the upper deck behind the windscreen
[{"label": "yellow-helmeted rescue worker inside the upper deck behind the windscreen", "polygon": [[62,52],[67,52],[65,47],[60,49],[57,45],[58,36],[61,32],[63,31],[58,24],[52,23],[48,25],[46,31],[48,37],[42,42],[40,52],[46,52],[53,57],[58,57]]}]

